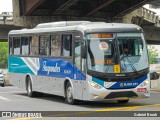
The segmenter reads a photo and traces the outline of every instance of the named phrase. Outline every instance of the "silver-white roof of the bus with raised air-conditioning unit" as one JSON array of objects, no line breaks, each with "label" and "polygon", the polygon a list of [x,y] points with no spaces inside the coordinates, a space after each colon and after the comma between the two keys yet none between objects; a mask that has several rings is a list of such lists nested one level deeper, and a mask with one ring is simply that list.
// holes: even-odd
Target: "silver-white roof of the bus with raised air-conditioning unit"
[{"label": "silver-white roof of the bus with raised air-conditioning unit", "polygon": [[31,33],[47,33],[60,31],[78,30],[82,33],[91,32],[142,32],[142,29],[134,24],[125,23],[105,23],[105,22],[90,22],[90,21],[61,21],[38,24],[33,29],[12,30],[10,35],[16,34],[31,34]]}]

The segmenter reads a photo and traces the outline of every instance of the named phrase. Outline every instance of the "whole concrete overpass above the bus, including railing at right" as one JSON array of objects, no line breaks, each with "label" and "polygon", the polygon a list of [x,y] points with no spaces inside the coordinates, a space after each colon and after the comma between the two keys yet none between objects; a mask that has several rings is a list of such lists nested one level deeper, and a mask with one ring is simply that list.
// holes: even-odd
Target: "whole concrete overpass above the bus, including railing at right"
[{"label": "whole concrete overpass above the bus, including railing at right", "polygon": [[[157,4],[157,0],[12,1],[14,20],[11,26],[33,28],[39,23],[64,20],[134,23],[142,26],[149,43],[157,41],[159,43],[159,18],[154,12],[141,8],[142,5],[147,3],[155,5],[155,3]],[[3,27],[1,28],[3,29]]]}]

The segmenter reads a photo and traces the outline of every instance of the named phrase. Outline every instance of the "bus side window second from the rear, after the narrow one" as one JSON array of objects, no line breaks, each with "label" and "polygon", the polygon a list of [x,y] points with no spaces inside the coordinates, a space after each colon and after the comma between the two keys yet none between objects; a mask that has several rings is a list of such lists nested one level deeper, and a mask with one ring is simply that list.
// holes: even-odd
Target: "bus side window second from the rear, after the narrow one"
[{"label": "bus side window second from the rear, after the narrow one", "polygon": [[20,37],[13,38],[13,54],[20,55]]}]

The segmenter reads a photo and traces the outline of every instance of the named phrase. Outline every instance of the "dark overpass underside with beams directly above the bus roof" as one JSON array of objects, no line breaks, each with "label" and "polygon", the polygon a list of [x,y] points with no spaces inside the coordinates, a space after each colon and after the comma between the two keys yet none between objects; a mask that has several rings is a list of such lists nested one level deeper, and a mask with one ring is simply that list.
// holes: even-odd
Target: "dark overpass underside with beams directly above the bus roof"
[{"label": "dark overpass underside with beams directly above the bus roof", "polygon": [[33,28],[39,23],[89,20],[111,22],[153,0],[12,0],[14,24]]}]

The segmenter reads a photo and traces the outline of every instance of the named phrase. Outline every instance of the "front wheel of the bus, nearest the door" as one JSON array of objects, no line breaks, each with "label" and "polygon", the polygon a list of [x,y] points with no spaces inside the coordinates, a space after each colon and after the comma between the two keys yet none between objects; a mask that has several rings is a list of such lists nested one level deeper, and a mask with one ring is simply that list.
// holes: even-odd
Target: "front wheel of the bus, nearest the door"
[{"label": "front wheel of the bus, nearest the door", "polygon": [[77,100],[73,98],[73,91],[70,82],[67,82],[65,87],[65,102],[71,105],[77,104]]}]

